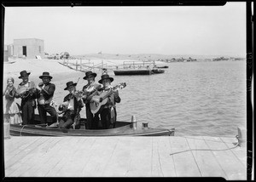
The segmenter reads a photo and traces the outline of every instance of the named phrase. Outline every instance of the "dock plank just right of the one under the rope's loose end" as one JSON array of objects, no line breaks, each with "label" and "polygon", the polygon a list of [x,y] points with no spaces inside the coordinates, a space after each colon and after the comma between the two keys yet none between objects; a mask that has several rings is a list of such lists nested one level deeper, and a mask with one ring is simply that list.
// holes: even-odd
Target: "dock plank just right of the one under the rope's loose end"
[{"label": "dock plank just right of the one under the rope's loose end", "polygon": [[210,151],[207,146],[206,141],[201,136],[193,136],[187,138],[187,140],[189,148],[193,149],[192,153],[195,162],[197,163],[198,168],[200,168],[203,177],[218,176],[227,179],[224,170],[220,167],[215,157],[212,155],[212,151]]}]

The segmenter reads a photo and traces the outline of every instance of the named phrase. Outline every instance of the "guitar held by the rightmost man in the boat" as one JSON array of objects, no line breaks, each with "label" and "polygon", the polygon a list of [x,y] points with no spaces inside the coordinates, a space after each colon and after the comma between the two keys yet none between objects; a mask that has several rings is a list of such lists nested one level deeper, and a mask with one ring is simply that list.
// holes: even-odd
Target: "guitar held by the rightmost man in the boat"
[{"label": "guitar held by the rightmost man in the boat", "polygon": [[108,102],[108,96],[110,94],[113,94],[113,91],[118,90],[118,89],[122,89],[126,87],[126,83],[125,82],[121,82],[118,85],[116,85],[115,87],[113,87],[109,92],[103,92],[100,95],[94,95],[92,97],[91,100],[93,100],[92,102],[90,102],[90,111],[92,114],[96,114],[102,107],[102,105],[106,105]]}]

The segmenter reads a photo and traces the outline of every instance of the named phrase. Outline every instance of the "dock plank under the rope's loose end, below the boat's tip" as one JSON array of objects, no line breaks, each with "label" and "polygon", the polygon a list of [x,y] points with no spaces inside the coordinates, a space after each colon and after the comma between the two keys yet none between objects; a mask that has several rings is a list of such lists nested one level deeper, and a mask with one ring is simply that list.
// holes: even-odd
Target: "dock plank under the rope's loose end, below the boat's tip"
[{"label": "dock plank under the rope's loose end, below the boat's tip", "polygon": [[189,145],[184,137],[170,137],[171,151],[177,177],[201,177],[201,172],[196,165],[192,151],[176,153],[189,150]]}]

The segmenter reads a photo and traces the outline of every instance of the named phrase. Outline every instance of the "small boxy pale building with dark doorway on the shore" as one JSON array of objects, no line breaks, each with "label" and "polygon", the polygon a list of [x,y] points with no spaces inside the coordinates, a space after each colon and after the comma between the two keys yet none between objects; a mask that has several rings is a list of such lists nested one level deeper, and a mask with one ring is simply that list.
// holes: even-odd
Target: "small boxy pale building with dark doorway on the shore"
[{"label": "small boxy pale building with dark doorway on the shore", "polygon": [[9,45],[10,55],[15,57],[44,58],[44,40],[38,38],[14,39],[14,43]]}]

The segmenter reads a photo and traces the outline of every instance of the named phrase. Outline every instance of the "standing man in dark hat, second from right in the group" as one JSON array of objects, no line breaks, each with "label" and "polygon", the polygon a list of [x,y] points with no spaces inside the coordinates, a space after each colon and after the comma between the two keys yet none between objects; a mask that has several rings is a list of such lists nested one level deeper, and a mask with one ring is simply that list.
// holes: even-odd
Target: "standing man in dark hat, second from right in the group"
[{"label": "standing man in dark hat, second from right in the group", "polygon": [[95,82],[96,76],[97,74],[95,72],[87,71],[85,72],[85,77],[84,77],[84,80],[87,80],[88,82],[83,87],[83,92],[86,95],[83,101],[85,104],[85,111],[86,111],[86,118],[87,118],[86,128],[88,129],[96,129],[98,126],[98,122],[100,120],[99,114],[95,114],[95,116],[93,116],[93,114],[90,111],[90,100],[92,98],[92,96],[90,95],[94,93],[97,88],[102,87],[100,84]]}]

